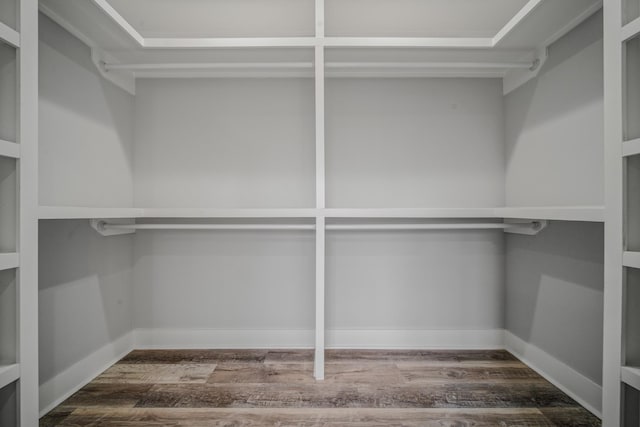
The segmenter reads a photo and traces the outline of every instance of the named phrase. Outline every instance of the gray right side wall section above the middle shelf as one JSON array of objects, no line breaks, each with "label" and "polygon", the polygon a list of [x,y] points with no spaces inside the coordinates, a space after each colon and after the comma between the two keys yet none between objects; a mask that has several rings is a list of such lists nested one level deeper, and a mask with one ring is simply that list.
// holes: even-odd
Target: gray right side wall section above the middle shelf
[{"label": "gray right side wall section above the middle shelf", "polygon": [[507,206],[604,203],[602,52],[596,13],[505,97]]}]

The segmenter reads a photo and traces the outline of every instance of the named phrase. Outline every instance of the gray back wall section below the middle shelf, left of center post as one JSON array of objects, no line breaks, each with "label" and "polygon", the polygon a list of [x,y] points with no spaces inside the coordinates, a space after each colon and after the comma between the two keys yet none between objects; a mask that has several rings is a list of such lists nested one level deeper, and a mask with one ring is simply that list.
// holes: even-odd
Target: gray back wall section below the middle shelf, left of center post
[{"label": "gray back wall section below the middle shelf, left of center post", "polygon": [[138,231],[136,328],[310,330],[315,233]]}]

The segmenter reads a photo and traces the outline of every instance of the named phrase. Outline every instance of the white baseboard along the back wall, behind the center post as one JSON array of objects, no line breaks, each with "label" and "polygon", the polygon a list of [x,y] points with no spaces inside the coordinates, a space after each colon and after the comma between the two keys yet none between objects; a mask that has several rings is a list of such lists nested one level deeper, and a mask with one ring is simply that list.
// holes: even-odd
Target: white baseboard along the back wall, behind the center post
[{"label": "white baseboard along the back wall, behind the center post", "polygon": [[[313,330],[136,329],[135,347],[313,348]],[[503,330],[327,330],[327,348],[496,349]]]}]

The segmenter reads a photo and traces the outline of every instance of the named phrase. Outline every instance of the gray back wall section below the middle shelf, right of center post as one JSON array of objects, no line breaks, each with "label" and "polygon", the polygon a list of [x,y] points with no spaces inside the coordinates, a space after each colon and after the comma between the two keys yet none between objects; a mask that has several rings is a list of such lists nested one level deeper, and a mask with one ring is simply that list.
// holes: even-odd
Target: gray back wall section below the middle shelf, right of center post
[{"label": "gray back wall section below the middle shelf, right of center post", "polygon": [[332,231],[327,327],[502,329],[503,255],[496,231]]}]

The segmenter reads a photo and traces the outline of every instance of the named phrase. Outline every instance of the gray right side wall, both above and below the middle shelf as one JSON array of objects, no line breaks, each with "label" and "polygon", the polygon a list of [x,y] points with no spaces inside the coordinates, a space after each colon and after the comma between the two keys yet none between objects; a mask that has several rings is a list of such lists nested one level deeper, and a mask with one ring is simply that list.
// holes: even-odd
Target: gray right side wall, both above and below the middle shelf
[{"label": "gray right side wall, both above and below the middle shelf", "polygon": [[[603,203],[602,15],[505,98],[509,205]],[[506,329],[602,382],[603,225],[506,237]]]}]

